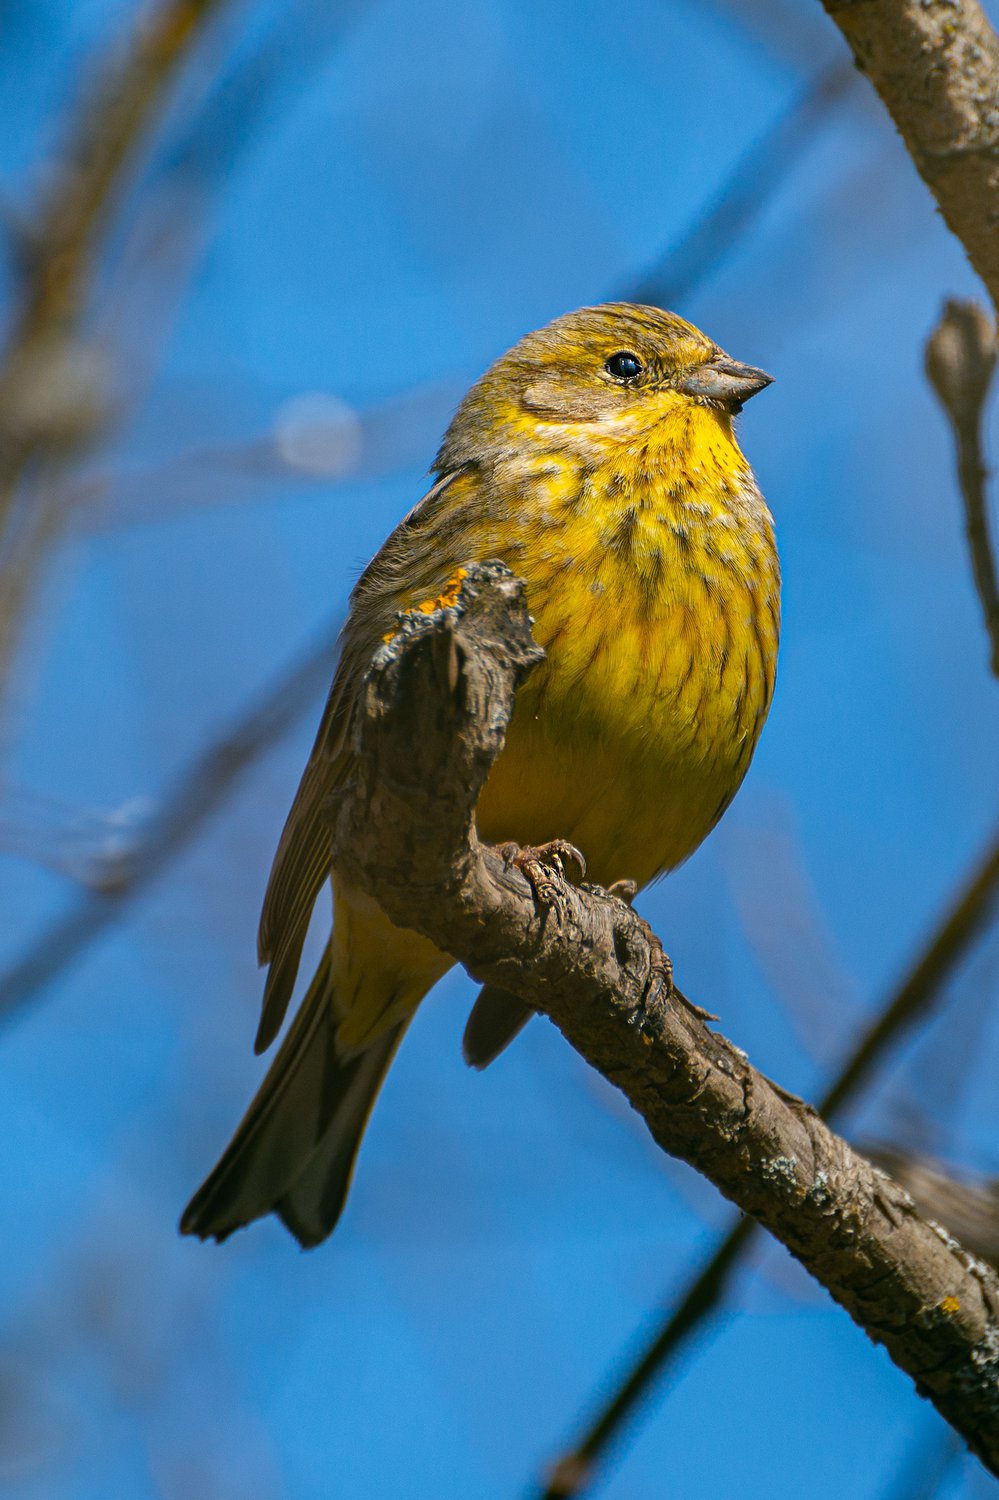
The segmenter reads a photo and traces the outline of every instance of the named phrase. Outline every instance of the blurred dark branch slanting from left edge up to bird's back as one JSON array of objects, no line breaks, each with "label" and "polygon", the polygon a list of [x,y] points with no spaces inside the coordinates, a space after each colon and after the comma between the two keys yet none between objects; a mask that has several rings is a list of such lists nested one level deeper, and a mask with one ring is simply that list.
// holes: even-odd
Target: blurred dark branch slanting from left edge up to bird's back
[{"label": "blurred dark branch slanting from left edge up to bird's back", "polygon": [[202,824],[230,796],[250,765],[274,746],[327,688],[339,622],[315,644],[178,777],[159,813],[116,861],[100,890],[80,896],[45,928],[27,952],[0,975],[0,1023],[8,1022],[44,986],[118,921],[138,896],[190,844]]}]

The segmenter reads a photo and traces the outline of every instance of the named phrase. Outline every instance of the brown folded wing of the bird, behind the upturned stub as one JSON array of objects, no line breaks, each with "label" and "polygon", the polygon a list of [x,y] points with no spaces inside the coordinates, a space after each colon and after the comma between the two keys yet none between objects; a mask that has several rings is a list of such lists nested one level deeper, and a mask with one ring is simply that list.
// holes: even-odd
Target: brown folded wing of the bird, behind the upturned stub
[{"label": "brown folded wing of the bird, behind the upturned stub", "polygon": [[[340,658],[326,700],[309,764],[285,822],[267,882],[256,939],[261,963],[270,964],[264,986],[255,1050],[264,1052],[280,1030],[291,1000],[302,946],[316,896],[330,873],[332,849],[326,802],[350,765],[348,729],[364,670],[394,614],[422,597],[435,567],[447,566],[426,544],[412,555],[411,542],[460,478],[446,474],[399,522],[368,564],[351,594],[351,612],[340,636]],[[429,572],[428,572],[429,568]],[[423,596],[424,597],[424,596]]]}]

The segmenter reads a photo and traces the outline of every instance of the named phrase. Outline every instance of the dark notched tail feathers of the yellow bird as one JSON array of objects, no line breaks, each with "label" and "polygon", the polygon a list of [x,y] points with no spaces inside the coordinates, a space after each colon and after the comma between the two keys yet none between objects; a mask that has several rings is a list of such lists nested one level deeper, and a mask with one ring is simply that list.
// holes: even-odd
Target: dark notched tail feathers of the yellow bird
[{"label": "dark notched tail feathers of the yellow bird", "polygon": [[408,1014],[363,1052],[336,1046],[327,946],[278,1056],[212,1174],[184,1209],[184,1234],[224,1240],[266,1214],[318,1245],[336,1224],[368,1116]]}]

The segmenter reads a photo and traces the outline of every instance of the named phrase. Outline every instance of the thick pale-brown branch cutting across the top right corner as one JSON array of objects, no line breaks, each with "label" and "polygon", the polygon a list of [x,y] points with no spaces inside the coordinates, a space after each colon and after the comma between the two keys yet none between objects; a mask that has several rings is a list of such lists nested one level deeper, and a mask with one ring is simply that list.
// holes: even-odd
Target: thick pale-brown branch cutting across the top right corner
[{"label": "thick pale-brown branch cutting across the top right corner", "polygon": [[978,0],[822,0],[999,309],[999,39]]}]

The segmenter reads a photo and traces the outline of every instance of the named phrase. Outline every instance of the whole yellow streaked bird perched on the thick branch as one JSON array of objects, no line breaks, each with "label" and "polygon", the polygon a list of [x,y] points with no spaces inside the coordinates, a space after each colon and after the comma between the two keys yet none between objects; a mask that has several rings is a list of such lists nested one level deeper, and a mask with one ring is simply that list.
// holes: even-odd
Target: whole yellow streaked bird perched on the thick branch
[{"label": "whole yellow streaked bird perched on the thick branch", "polygon": [[[357,580],[258,934],[256,1052],[290,1008],[312,910],[333,927],[298,1011],[182,1232],[276,1214],[303,1246],[340,1218],[360,1140],[420,1000],[453,958],[336,868],[324,806],[351,776],[364,672],[408,610],[498,560],[544,651],[476,808],[528,876],[585,855],[630,896],[675,870],[735,796],[774,693],[774,522],[734,420],[771,376],[660,308],[604,303],[524,336],[471,387],[432,483]],[[464,1038],[484,1066],[532,1012],[486,987]]]}]

